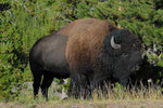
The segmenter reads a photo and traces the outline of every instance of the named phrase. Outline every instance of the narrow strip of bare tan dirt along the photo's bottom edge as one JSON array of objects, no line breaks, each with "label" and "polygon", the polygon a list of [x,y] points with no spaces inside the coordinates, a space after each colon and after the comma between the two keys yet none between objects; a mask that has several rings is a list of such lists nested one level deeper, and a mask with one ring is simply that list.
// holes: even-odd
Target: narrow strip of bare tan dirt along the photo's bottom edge
[{"label": "narrow strip of bare tan dirt along the photo's bottom edge", "polygon": [[0,103],[0,108],[163,108],[163,100],[154,102],[96,102],[78,104],[42,104],[42,105],[15,105]]}]

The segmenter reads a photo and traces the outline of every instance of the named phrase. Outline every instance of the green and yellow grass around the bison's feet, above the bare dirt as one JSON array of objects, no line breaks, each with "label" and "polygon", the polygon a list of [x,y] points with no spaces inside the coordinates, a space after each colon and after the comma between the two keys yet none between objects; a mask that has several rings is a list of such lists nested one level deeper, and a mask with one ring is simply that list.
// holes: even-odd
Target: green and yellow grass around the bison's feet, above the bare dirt
[{"label": "green and yellow grass around the bison's feet, above the bare dirt", "polygon": [[[106,87],[106,95],[103,95],[102,92],[95,91],[92,93],[91,99],[84,99],[83,97],[75,99],[75,98],[68,98],[68,99],[61,99],[60,93],[57,94],[57,89],[59,85],[52,84],[52,86],[49,89],[49,100],[46,102],[46,99],[41,96],[39,93],[38,99],[34,100],[33,98],[33,87],[28,86],[27,89],[24,89],[21,94],[15,98],[15,100],[9,103],[12,104],[12,107],[16,106],[23,106],[26,108],[36,108],[36,107],[97,107],[97,108],[105,108],[109,105],[121,105],[125,104],[128,106],[129,104],[146,102],[146,103],[159,103],[163,100],[162,95],[162,89],[159,85],[150,84],[148,87],[140,85],[138,89],[137,86],[133,86],[131,89],[125,89],[121,84],[116,83],[113,89]],[[127,104],[128,103],[128,104]],[[49,107],[48,107],[49,106]],[[98,107],[99,106],[99,107]],[[126,107],[127,108],[127,107]],[[141,106],[140,106],[141,108]],[[142,106],[142,108],[146,108]]]}]

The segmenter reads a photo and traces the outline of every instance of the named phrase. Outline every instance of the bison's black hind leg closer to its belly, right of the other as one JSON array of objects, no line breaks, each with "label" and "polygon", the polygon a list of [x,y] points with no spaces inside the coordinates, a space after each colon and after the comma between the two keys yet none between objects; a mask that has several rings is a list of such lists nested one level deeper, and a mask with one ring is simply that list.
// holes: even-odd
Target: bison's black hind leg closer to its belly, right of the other
[{"label": "bison's black hind leg closer to its belly, right of the other", "polygon": [[48,89],[53,81],[53,76],[49,71],[43,71],[43,81],[41,83],[41,93],[43,97],[48,100]]}]

